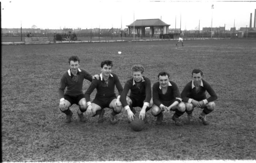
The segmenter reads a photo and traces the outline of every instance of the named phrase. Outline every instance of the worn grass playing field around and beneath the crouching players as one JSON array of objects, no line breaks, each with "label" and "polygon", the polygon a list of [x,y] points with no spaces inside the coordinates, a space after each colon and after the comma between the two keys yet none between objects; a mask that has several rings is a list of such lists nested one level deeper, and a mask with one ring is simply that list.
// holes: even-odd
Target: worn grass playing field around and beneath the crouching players
[{"label": "worn grass playing field around and beneath the crouching players", "polygon": [[[256,40],[193,40],[178,48],[175,43],[2,46],[2,161],[255,160]],[[76,105],[71,107],[72,122],[65,124],[57,90],[71,55],[79,56],[81,68],[91,74],[100,73],[101,61],[113,60],[112,72],[123,86],[133,64],[144,65],[152,85],[160,71],[169,72],[180,91],[191,80],[192,69],[202,69],[218,95],[216,109],[207,117],[210,125],[198,119],[198,108],[191,124],[183,126],[171,120],[173,112],[156,125],[150,110],[149,123],[134,132],[124,109],[116,125],[110,124],[108,108],[103,124],[95,117],[81,123]],[[89,84],[84,82],[84,92]]]}]

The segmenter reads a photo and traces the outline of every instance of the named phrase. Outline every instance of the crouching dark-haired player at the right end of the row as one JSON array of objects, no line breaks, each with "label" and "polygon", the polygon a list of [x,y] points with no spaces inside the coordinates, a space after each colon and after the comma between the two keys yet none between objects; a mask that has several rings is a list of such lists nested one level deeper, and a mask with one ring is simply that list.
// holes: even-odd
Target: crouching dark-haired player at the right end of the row
[{"label": "crouching dark-haired player at the right end of the row", "polygon": [[[210,97],[206,97],[205,92],[210,94]],[[215,109],[215,101],[218,96],[205,80],[203,80],[203,72],[200,69],[193,69],[192,81],[184,87],[181,92],[182,101],[185,102],[187,120],[185,124],[189,124],[192,118],[192,112],[194,107],[203,109],[199,115],[199,119],[202,120],[204,125],[208,125],[209,122],[206,120],[206,115],[211,113]]]}]

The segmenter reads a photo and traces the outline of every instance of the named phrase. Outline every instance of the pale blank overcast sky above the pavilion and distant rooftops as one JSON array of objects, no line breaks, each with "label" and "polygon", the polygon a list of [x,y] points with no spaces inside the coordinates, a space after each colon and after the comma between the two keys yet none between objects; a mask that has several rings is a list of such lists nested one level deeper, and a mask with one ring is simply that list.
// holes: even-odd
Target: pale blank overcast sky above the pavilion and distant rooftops
[{"label": "pale blank overcast sky above the pavilion and distant rooftops", "polygon": [[[256,1],[0,0],[1,28],[126,28],[134,19],[161,19],[182,30],[252,27]],[[212,9],[212,5],[214,8]],[[176,21],[175,21],[176,19]]]}]

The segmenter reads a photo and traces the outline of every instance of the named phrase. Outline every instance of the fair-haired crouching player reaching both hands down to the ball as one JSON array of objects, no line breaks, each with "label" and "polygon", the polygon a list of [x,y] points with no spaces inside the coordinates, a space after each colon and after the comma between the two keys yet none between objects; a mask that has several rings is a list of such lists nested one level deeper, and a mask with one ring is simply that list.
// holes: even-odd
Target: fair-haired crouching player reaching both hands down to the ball
[{"label": "fair-haired crouching player reaching both hands down to the ball", "polygon": [[[143,76],[144,67],[140,64],[132,66],[132,78],[127,80],[124,85],[124,90],[121,94],[121,102],[124,109],[127,111],[129,121],[135,116],[133,107],[141,107],[139,118],[147,123],[146,112],[153,105],[151,98],[151,82],[146,76]],[[130,95],[127,96],[129,90]]]}]

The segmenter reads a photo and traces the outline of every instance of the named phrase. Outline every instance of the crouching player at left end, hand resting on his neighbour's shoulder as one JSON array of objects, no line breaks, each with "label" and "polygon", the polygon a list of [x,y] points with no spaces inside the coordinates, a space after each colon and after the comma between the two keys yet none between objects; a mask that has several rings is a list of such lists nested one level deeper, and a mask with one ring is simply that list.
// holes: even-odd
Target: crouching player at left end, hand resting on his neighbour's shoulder
[{"label": "crouching player at left end, hand resting on his neighbour's shoulder", "polygon": [[[85,122],[83,112],[86,111],[87,104],[82,91],[83,80],[87,79],[90,82],[94,77],[99,78],[98,75],[91,76],[84,69],[79,68],[80,59],[78,56],[71,56],[68,58],[69,69],[66,71],[60,80],[59,98],[60,98],[60,111],[66,114],[65,122],[71,122],[72,111],[69,109],[74,103],[79,105],[78,117],[81,122]],[[65,88],[67,90],[64,93]]]}]

